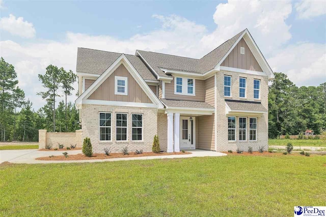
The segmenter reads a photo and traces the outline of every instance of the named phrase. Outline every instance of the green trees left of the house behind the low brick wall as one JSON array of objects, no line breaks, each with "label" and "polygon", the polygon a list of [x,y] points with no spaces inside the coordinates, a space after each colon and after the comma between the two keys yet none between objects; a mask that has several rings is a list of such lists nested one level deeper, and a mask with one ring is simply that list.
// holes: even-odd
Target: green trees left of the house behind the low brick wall
[{"label": "green trees left of the house behind the low brick wall", "polygon": [[[38,141],[38,130],[74,132],[80,129],[75,105],[68,102],[76,75],[63,68],[48,66],[44,75],[38,75],[46,91],[38,92],[46,104],[35,111],[33,102],[25,99],[19,88],[17,74],[12,65],[0,59],[0,139],[1,141]],[[65,100],[56,105],[57,98]]]}]

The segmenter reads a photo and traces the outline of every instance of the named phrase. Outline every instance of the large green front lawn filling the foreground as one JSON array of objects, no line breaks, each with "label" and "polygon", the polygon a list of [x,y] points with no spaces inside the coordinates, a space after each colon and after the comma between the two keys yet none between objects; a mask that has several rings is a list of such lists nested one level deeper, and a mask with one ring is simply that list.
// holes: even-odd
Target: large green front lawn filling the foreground
[{"label": "large green front lawn filling the foreground", "polygon": [[324,206],[326,158],[299,154],[0,164],[1,216],[291,216]]}]

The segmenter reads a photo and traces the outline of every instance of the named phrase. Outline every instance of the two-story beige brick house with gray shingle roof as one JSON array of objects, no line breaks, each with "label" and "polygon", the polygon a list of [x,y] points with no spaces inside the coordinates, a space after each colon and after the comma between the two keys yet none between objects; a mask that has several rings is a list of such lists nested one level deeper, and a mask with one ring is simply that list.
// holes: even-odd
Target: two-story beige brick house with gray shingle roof
[{"label": "two-story beige brick house with gray shingle roof", "polygon": [[83,138],[94,152],[268,148],[264,56],[243,30],[200,59],[137,50],[135,55],[78,48]]}]

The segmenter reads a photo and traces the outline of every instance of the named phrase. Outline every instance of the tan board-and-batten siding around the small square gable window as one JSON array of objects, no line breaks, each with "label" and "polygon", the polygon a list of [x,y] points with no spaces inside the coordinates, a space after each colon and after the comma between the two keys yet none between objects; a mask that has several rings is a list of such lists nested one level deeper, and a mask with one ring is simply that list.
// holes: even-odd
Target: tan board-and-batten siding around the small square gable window
[{"label": "tan board-and-batten siding around the small square gable window", "polygon": [[[115,95],[115,76],[128,78],[128,95]],[[120,65],[88,98],[89,100],[106,100],[133,103],[152,103],[141,86],[134,80],[128,70]]]}]

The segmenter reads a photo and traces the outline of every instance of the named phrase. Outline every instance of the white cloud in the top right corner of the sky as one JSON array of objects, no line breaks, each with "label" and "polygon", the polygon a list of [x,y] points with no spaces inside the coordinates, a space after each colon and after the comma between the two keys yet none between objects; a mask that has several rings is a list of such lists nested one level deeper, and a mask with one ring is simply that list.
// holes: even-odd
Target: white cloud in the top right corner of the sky
[{"label": "white cloud in the top right corner of the sky", "polygon": [[324,0],[302,0],[295,4],[297,16],[300,19],[326,14],[326,2]]}]

